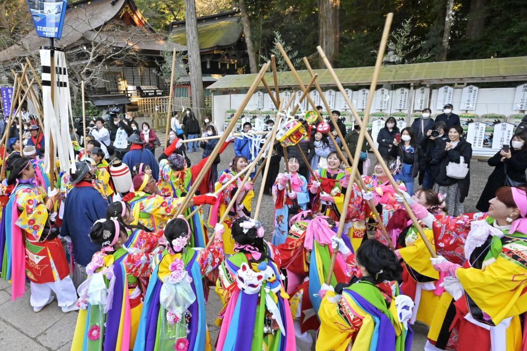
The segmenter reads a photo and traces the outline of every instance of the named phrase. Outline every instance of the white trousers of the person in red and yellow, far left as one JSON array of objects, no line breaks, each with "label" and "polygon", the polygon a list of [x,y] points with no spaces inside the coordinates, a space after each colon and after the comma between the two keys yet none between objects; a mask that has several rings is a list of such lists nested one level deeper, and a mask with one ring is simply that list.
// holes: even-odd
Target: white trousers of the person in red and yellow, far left
[{"label": "white trousers of the person in red and yellow, far left", "polygon": [[36,284],[31,282],[31,306],[44,307],[51,297],[51,292],[57,296],[58,307],[67,307],[76,303],[77,292],[73,286],[73,281],[67,275],[62,280],[53,283]]}]

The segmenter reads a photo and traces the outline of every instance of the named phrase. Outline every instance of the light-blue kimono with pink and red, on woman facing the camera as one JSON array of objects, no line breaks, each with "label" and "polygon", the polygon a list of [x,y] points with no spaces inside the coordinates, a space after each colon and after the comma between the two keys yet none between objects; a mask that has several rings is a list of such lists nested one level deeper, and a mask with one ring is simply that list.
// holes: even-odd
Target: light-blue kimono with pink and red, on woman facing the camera
[{"label": "light-blue kimono with pink and red, on woman facing the camera", "polygon": [[[292,190],[289,189],[289,182],[280,190],[278,183],[282,176],[279,173],[272,186],[272,198],[275,200],[275,231],[272,234],[271,243],[275,246],[286,241],[287,232],[289,232],[289,208],[298,205],[301,210],[306,210],[309,203],[306,178],[298,173],[292,174],[290,179]],[[296,198],[289,198],[288,193],[291,191],[296,193]]]}]

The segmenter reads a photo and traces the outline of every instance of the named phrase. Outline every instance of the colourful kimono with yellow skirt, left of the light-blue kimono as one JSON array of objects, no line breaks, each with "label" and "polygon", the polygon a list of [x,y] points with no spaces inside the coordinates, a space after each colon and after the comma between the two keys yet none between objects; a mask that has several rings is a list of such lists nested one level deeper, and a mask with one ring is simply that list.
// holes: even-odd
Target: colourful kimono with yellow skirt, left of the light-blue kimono
[{"label": "colourful kimono with yellow skirt, left of the light-blue kimono", "polygon": [[[227,170],[226,170],[227,171]],[[230,179],[232,179],[233,176],[235,176],[236,173],[233,171],[230,172],[222,172],[220,175],[220,178],[218,179],[218,182],[214,186],[214,192],[217,192],[224,184],[226,184]],[[242,178],[238,178],[236,182],[232,183],[227,187],[221,194],[218,195],[218,202],[214,206],[210,206],[209,210],[209,225],[213,228],[216,223],[218,223],[218,220],[223,216],[225,213],[225,210],[227,209],[227,206],[229,206],[229,203],[232,199],[232,196],[236,193],[236,189],[238,188],[238,185],[241,184]],[[232,206],[231,211],[229,213],[229,216],[223,221],[223,227],[225,228],[225,232],[223,232],[223,251],[227,255],[231,255],[234,253],[234,239],[231,235],[230,227],[232,226],[233,220],[238,218],[240,215],[248,216],[251,215],[251,201],[252,198],[255,196],[255,193],[253,190],[250,190],[245,198],[243,199],[243,209],[242,213],[239,213],[236,208],[236,204]]]}]

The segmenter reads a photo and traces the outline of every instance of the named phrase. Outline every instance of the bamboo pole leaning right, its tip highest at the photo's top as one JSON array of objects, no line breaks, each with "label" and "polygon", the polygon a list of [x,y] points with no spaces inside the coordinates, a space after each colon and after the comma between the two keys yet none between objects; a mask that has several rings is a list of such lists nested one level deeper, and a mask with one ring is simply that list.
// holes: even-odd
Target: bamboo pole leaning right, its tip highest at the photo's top
[{"label": "bamboo pole leaning right, its tip highest at the photo's top", "polygon": [[[380,39],[379,51],[377,52],[377,60],[375,62],[375,69],[373,71],[372,83],[370,84],[370,87],[369,87],[370,93],[368,95],[368,101],[366,103],[366,112],[364,113],[364,119],[363,119],[363,122],[366,125],[368,124],[369,109],[372,107],[373,98],[375,94],[375,87],[377,86],[377,78],[379,76],[380,67],[383,63],[384,50],[386,48],[386,42],[388,41],[388,35],[390,31],[390,26],[392,24],[392,19],[393,19],[393,13],[389,13],[386,16],[386,22],[384,23],[383,35]],[[317,49],[318,48],[320,47],[317,47]],[[366,132],[366,128],[360,128],[359,138],[357,140],[357,148],[355,149],[355,158],[352,164],[352,172],[351,172],[352,175],[355,173],[355,169],[357,169],[357,166],[359,163],[360,150],[362,149],[362,145],[364,143],[364,138],[366,134],[368,134]],[[348,189],[348,191],[346,191],[346,195],[344,196],[344,207],[343,208],[348,207],[349,199],[351,195],[352,195],[352,191]],[[338,238],[342,236],[345,220],[346,220],[346,211],[343,211],[340,214],[340,220],[338,223],[338,230],[337,230]],[[337,253],[338,253],[338,249],[335,249],[333,250],[333,254],[331,255],[331,263],[329,265],[328,275],[326,277],[326,284],[328,285],[331,283],[331,276],[333,275],[333,270],[335,269],[335,263],[337,261]]]}]

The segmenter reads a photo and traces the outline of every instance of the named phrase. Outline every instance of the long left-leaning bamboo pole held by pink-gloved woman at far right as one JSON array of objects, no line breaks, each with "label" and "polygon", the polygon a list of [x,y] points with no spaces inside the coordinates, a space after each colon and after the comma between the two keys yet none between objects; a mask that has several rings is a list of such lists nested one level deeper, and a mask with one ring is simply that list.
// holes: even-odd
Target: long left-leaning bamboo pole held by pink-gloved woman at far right
[{"label": "long left-leaning bamboo pole held by pink-gloved woman at far right", "polygon": [[[339,79],[338,79],[333,67],[331,67],[329,61],[327,61],[327,58],[325,57],[324,52],[322,51],[321,48],[319,49],[319,53],[320,52],[322,53],[321,57],[323,58],[324,63],[326,64],[326,66],[328,68],[328,71],[330,72],[331,76],[333,76],[333,79],[335,80],[335,83],[336,83],[337,87],[339,88],[340,93],[343,95],[346,103],[348,104],[348,106],[350,108],[350,111],[352,111],[357,123],[360,125],[361,131],[362,131],[362,129],[366,129],[367,123],[363,123],[363,121],[360,120],[360,117],[357,114],[357,111],[356,111],[355,107],[353,106],[352,102],[350,101],[350,99],[348,98],[347,94],[345,93],[343,85],[340,83],[340,81],[339,81]],[[399,188],[397,186],[397,182],[395,182],[395,179],[394,179],[392,173],[390,172],[388,166],[383,161],[382,156],[380,155],[377,147],[375,146],[375,143],[373,142],[372,136],[370,136],[369,133],[366,133],[365,137],[366,137],[366,140],[368,141],[368,143],[370,144],[370,146],[372,146],[372,151],[374,152],[375,157],[377,157],[377,162],[379,163],[380,166],[383,167],[384,172],[388,175],[389,182],[392,184],[392,186],[395,189],[395,191],[397,193],[399,193]],[[408,203],[406,202],[406,200],[403,201],[403,204],[404,204],[404,207],[406,209],[406,213],[408,213],[408,216],[410,217],[412,222],[413,223],[418,223],[417,218],[415,217],[414,213],[412,212],[412,210],[411,210],[410,206],[408,205]],[[436,254],[435,254],[435,250],[432,247],[432,244],[430,244],[430,242],[428,241],[428,238],[424,234],[423,229],[421,228],[421,226],[416,225],[416,229],[417,229],[417,232],[419,233],[419,235],[421,236],[421,238],[423,239],[423,242],[425,243],[425,246],[428,249],[428,252],[430,252],[430,255],[432,257],[437,257]]]}]

